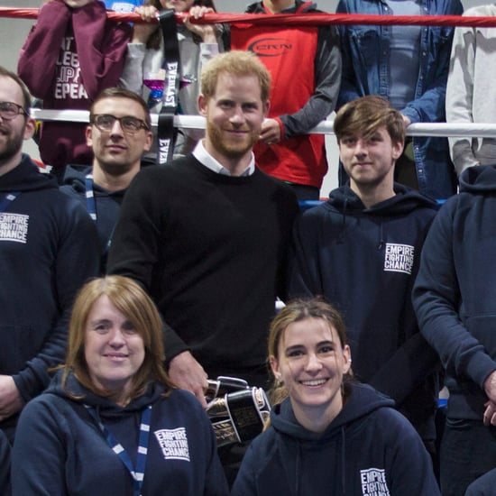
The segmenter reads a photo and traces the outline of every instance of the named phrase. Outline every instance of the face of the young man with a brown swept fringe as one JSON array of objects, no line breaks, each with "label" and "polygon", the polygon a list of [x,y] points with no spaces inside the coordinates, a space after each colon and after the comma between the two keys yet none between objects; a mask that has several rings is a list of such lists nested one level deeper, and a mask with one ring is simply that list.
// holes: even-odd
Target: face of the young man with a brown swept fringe
[{"label": "face of the young man with a brown swept fringe", "polygon": [[370,136],[346,136],[339,140],[339,157],[354,186],[374,188],[383,183],[392,187],[394,163],[403,151],[402,142],[392,142],[385,126]]}]

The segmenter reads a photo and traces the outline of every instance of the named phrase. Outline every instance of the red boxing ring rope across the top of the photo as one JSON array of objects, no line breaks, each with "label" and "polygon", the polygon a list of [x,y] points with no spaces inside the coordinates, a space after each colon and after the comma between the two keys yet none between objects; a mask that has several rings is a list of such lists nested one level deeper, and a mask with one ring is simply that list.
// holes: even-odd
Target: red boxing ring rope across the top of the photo
[{"label": "red boxing ring rope across the top of the photo", "polygon": [[[0,17],[36,19],[39,9],[0,7]],[[182,22],[188,14],[176,14]],[[117,14],[109,11],[109,19],[115,22],[142,23],[138,14]],[[420,25],[420,26],[465,26],[496,27],[495,17],[462,15],[375,15],[375,14],[206,14],[202,19],[191,19],[191,23],[248,23],[259,26],[299,25],[319,26],[325,24],[374,24],[374,25]]]}]

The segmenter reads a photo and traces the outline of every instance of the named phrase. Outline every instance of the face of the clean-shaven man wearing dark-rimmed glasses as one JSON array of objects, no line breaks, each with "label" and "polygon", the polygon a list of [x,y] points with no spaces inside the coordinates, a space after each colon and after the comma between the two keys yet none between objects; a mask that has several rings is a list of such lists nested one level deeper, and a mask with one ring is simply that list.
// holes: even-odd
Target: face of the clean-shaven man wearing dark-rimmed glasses
[{"label": "face of the clean-shaven man wearing dark-rimmed glasses", "polygon": [[[98,100],[92,108],[93,115],[130,115],[146,121],[146,115],[138,102],[125,97],[106,97]],[[94,165],[112,176],[122,176],[130,170],[139,170],[143,152],[152,146],[152,133],[140,129],[124,133],[115,121],[110,131],[100,131],[95,124],[87,126],[87,145],[93,148]]]}]

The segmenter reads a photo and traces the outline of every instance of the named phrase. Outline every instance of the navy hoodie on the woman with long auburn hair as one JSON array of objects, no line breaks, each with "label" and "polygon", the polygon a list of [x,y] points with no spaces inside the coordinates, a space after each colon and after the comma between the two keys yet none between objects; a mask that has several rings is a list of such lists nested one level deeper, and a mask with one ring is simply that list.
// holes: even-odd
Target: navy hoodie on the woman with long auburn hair
[{"label": "navy hoodie on the woman with long auburn hair", "polygon": [[152,405],[142,496],[228,494],[207,414],[195,397],[172,390],[163,397],[151,382],[144,394],[120,407],[84,389],[69,375],[62,389],[60,371],[51,388],[32,400],[19,420],[12,455],[14,496],[132,496],[133,479],[84,404],[96,410],[104,426],[124,446],[135,466],[142,410]]}]

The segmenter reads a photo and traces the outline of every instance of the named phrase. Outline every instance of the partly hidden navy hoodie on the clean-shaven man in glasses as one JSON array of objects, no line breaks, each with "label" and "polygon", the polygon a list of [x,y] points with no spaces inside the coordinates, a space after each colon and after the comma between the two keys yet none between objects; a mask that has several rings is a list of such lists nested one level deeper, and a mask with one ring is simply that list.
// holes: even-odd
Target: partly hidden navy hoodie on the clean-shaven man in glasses
[{"label": "partly hidden navy hoodie on the clean-shaven man in glasses", "polygon": [[[64,185],[60,187],[60,191],[63,191],[69,197],[78,199],[86,210],[86,176],[91,172],[92,167],[90,166],[69,165],[65,170]],[[115,224],[119,218],[125,191],[126,189],[107,191],[97,184],[93,185],[96,204],[96,229],[100,239],[100,253],[102,255],[102,272],[105,272],[110,238],[114,233]]]}]

